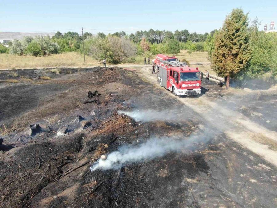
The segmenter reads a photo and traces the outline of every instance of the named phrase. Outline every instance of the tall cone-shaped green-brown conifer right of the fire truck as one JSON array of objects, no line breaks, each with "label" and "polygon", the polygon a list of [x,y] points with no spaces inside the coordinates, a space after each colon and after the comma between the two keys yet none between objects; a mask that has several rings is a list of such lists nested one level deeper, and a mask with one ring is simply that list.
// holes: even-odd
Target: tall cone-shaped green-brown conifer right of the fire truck
[{"label": "tall cone-shaped green-brown conifer right of the fire truck", "polygon": [[248,17],[242,9],[234,9],[227,15],[222,29],[215,36],[211,67],[217,75],[227,78],[228,89],[230,78],[245,69],[250,58]]}]

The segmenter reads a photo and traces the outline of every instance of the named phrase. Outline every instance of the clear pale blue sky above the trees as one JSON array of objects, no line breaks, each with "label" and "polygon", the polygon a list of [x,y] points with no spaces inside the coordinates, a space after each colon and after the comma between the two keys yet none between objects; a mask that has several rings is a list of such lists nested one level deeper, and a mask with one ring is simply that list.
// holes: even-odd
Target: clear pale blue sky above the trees
[{"label": "clear pale blue sky above the trees", "polygon": [[[0,31],[34,32],[90,28],[93,34],[102,31],[183,30],[210,32],[222,26],[233,8],[249,12],[261,22],[275,21],[277,1],[268,0],[175,0],[175,1],[93,1],[93,0],[1,0]],[[80,33],[80,29],[70,30]],[[110,33],[113,33],[113,32]]]}]

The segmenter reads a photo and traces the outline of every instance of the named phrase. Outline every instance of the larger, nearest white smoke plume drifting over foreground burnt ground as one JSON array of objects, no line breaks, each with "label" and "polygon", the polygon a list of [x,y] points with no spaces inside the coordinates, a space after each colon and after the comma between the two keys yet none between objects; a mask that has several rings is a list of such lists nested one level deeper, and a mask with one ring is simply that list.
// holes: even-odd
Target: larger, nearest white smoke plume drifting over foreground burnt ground
[{"label": "larger, nearest white smoke plume drifting over foreground burnt ground", "polygon": [[152,138],[138,145],[124,145],[118,151],[107,155],[106,160],[99,159],[90,167],[91,171],[98,169],[119,169],[124,165],[140,161],[149,161],[156,157],[162,157],[172,152],[182,152],[194,150],[197,145],[195,142],[206,143],[211,136],[191,136],[188,139],[176,140],[173,138]]}]

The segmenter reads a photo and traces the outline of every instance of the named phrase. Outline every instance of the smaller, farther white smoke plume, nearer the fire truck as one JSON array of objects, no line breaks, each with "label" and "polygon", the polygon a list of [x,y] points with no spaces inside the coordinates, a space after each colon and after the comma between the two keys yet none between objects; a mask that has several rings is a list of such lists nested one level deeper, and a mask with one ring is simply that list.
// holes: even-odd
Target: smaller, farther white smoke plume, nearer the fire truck
[{"label": "smaller, farther white smoke plume, nearer the fire truck", "polygon": [[154,120],[163,121],[176,121],[177,116],[182,115],[182,111],[178,111],[178,114],[171,113],[171,111],[155,111],[155,110],[134,110],[134,111],[122,111],[119,110],[118,114],[124,113],[127,116],[134,118],[135,121],[149,122]]}]

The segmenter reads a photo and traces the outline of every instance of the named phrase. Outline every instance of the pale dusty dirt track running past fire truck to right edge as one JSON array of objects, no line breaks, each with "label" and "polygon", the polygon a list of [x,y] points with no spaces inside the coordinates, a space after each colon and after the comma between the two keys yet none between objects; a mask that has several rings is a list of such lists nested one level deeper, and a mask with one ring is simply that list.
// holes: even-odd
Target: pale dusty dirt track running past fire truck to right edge
[{"label": "pale dusty dirt track running past fire truck to right edge", "polygon": [[[151,74],[151,67],[136,67],[139,76],[151,84],[157,85],[156,74]],[[168,96],[173,96],[167,91]],[[174,97],[174,96],[173,96]],[[209,124],[226,133],[226,135],[238,142],[240,145],[263,157],[266,161],[277,166],[277,152],[270,149],[269,145],[261,144],[253,139],[277,141],[277,133],[251,121],[231,109],[225,108],[203,95],[198,98],[176,97],[176,99],[187,107],[203,116]],[[204,113],[203,113],[204,112]]]}]

